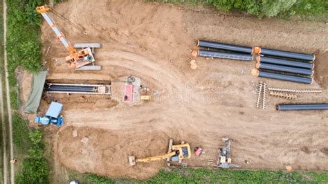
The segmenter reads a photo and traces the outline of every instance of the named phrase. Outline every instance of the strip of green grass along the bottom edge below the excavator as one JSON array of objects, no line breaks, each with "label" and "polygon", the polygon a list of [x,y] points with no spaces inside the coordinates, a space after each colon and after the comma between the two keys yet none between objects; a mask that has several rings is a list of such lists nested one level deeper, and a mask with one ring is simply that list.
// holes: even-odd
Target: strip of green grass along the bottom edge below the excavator
[{"label": "strip of green grass along the bottom edge below the excavator", "polygon": [[[71,179],[79,178],[78,174],[71,177]],[[86,174],[80,177],[80,181],[84,183],[328,183],[328,173],[222,169],[172,169],[168,172],[162,169],[156,176],[145,181],[108,178],[95,174]]]}]

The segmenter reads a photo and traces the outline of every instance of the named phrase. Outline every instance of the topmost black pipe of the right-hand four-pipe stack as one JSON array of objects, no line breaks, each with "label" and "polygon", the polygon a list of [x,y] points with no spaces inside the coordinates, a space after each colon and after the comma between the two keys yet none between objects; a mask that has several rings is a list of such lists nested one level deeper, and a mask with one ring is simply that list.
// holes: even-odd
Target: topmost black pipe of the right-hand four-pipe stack
[{"label": "topmost black pipe of the right-hand four-pipe stack", "polygon": [[303,59],[308,61],[314,61],[314,59],[316,59],[315,55],[309,55],[304,53],[293,53],[284,50],[273,50],[273,49],[260,48],[260,47],[255,47],[254,52],[255,54],[273,55],[273,56],[288,57],[293,59]]}]

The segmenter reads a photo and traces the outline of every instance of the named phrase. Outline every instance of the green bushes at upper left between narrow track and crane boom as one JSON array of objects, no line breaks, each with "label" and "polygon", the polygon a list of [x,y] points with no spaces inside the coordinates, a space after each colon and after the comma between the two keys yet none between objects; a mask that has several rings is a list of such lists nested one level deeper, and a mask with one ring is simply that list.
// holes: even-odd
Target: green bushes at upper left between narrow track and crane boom
[{"label": "green bushes at upper left between narrow track and crane boom", "polygon": [[31,73],[41,70],[41,16],[35,7],[42,0],[7,1],[7,44],[8,73],[10,86],[16,84],[15,68],[21,65]]}]

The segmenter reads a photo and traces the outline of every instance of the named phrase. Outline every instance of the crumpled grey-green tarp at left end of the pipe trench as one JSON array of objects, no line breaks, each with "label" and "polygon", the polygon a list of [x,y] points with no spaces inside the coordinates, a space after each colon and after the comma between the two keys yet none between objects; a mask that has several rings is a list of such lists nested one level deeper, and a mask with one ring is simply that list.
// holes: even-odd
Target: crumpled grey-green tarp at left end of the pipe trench
[{"label": "crumpled grey-green tarp at left end of the pipe trench", "polygon": [[24,107],[24,113],[36,113],[44,91],[44,82],[46,82],[47,71],[41,71],[33,74],[33,84],[30,90],[30,96]]}]

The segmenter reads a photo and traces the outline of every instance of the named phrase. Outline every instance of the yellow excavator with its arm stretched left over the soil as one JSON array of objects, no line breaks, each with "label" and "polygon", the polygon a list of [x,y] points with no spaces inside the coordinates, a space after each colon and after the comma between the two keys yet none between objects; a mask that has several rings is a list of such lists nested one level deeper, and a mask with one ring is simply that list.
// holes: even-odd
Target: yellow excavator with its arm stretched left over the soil
[{"label": "yellow excavator with its arm stretched left over the soil", "polygon": [[173,140],[170,139],[169,151],[167,154],[161,156],[151,156],[147,158],[136,158],[136,156],[129,156],[129,164],[131,166],[136,163],[146,163],[150,161],[167,159],[167,162],[177,162],[183,159],[190,158],[190,145],[188,143],[181,145],[172,145]]}]

